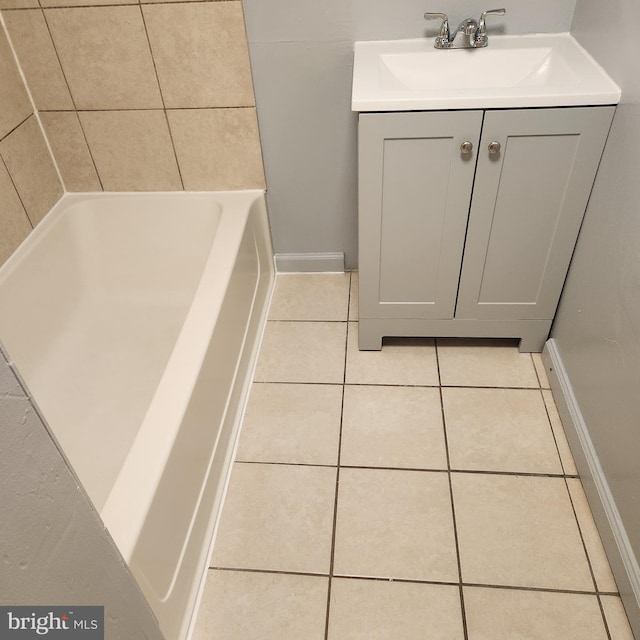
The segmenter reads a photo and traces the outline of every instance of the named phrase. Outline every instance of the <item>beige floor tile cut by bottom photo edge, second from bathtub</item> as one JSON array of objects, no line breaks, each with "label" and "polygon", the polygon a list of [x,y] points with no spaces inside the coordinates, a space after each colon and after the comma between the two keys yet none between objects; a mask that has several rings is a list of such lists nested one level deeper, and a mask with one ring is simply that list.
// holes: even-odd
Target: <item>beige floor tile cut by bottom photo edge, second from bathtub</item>
[{"label": "beige floor tile cut by bottom photo edge, second from bathtub", "polygon": [[335,578],[329,640],[462,640],[458,587]]}]

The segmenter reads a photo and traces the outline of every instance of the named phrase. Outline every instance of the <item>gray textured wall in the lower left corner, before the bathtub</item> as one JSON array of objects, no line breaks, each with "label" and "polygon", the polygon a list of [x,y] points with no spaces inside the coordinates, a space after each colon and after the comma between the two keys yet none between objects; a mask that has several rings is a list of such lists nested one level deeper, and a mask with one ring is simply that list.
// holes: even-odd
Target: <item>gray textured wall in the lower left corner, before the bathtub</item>
[{"label": "gray textured wall in the lower left corner, before the bathtub", "polygon": [[0,603],[104,605],[107,640],[164,640],[100,517],[2,354],[0,457]]}]

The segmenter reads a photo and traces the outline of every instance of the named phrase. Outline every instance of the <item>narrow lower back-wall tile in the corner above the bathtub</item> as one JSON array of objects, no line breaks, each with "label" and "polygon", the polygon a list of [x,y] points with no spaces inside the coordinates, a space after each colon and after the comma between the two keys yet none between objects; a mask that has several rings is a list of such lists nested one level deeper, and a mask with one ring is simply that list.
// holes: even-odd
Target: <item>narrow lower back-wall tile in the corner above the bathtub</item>
[{"label": "narrow lower back-wall tile in the corner above the bathtub", "polygon": [[67,191],[102,191],[78,114],[43,111],[40,119]]}]

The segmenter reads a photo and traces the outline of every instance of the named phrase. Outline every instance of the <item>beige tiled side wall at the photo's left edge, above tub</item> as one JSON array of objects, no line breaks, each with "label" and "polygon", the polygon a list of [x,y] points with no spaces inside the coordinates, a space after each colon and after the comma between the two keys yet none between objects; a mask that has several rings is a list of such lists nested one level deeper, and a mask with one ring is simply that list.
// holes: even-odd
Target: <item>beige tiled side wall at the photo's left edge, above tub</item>
[{"label": "beige tiled side wall at the photo's left edge, above tub", "polygon": [[2,25],[0,78],[2,264],[60,198],[63,189]]}]

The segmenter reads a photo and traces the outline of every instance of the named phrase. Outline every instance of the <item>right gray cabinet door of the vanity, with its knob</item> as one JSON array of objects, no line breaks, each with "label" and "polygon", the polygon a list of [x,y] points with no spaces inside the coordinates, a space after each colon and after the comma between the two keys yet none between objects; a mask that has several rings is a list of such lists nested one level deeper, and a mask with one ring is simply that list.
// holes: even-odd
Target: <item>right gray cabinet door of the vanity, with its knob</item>
[{"label": "right gray cabinet door of the vanity, with its knob", "polygon": [[614,110],[485,114],[456,317],[553,318]]}]

